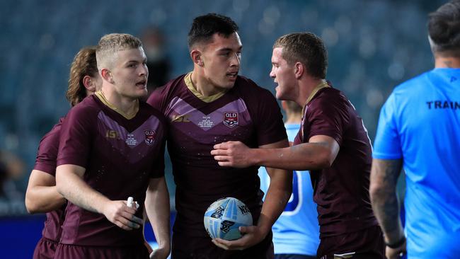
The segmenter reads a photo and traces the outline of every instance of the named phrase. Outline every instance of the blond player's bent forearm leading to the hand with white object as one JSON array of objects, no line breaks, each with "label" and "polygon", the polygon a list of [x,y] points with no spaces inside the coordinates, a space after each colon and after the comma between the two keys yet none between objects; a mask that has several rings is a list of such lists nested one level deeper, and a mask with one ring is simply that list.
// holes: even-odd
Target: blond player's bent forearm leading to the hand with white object
[{"label": "blond player's bent forearm leading to the hand with white object", "polygon": [[58,166],[56,170],[57,191],[67,200],[83,209],[103,214],[105,204],[110,200],[91,188],[82,179],[83,173],[67,170],[66,166]]}]

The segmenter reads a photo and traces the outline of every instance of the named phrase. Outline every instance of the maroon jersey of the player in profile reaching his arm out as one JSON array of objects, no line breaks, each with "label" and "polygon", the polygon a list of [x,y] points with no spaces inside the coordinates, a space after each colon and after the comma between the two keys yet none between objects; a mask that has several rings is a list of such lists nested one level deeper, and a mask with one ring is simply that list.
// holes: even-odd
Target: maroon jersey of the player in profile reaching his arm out
[{"label": "maroon jersey of the player in profile reaching his arm out", "polygon": [[330,168],[311,171],[320,236],[376,225],[369,199],[372,147],[367,130],[350,101],[335,88],[320,89],[306,104],[294,144],[316,135],[332,137],[340,146]]}]

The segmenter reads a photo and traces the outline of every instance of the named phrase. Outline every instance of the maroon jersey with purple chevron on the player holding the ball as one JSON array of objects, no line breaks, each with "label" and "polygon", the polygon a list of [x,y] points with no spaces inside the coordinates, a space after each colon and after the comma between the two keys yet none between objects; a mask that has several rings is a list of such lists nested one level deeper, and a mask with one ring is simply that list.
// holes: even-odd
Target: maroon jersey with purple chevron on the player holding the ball
[{"label": "maroon jersey with purple chevron on the player holding the ball", "polygon": [[243,201],[257,222],[263,196],[258,167],[222,167],[210,152],[214,144],[226,141],[258,147],[286,139],[280,108],[270,91],[242,76],[228,92],[207,102],[190,91],[190,84],[190,74],[179,76],[147,100],[169,122],[178,212],[173,230],[207,236],[205,211],[222,197]]}]

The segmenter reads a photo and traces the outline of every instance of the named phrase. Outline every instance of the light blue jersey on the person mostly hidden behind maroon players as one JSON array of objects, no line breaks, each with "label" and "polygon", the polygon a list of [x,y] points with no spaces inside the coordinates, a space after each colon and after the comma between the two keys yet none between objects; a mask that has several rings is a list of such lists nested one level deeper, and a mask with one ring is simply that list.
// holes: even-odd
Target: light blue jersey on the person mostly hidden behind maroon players
[{"label": "light blue jersey on the person mostly hidden behind maroon players", "polygon": [[[300,125],[286,124],[287,137],[294,141]],[[316,255],[319,244],[318,212],[313,201],[309,171],[294,171],[292,195],[272,227],[275,254]],[[259,168],[260,189],[267,192],[270,178]],[[265,197],[264,197],[265,199]]]}]

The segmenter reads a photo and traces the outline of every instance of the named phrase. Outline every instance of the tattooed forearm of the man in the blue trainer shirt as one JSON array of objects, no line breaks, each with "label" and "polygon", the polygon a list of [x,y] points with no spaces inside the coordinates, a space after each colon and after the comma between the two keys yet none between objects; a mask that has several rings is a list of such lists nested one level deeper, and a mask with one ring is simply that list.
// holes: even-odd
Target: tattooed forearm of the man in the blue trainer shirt
[{"label": "tattooed forearm of the man in the blue trainer shirt", "polygon": [[369,188],[372,209],[384,231],[387,243],[401,240],[403,227],[399,218],[399,202],[396,183],[401,172],[401,161],[372,161],[371,184]]}]

